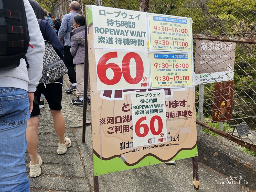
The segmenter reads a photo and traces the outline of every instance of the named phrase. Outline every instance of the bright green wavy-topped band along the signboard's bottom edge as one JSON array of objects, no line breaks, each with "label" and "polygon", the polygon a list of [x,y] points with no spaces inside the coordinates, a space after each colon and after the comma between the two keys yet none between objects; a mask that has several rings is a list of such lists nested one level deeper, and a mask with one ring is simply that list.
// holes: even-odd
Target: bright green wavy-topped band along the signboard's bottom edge
[{"label": "bright green wavy-topped band along the signboard's bottom edge", "polygon": [[[178,159],[185,159],[190,157],[197,156],[197,146],[192,150],[182,150],[180,151],[173,159],[170,161],[178,160]],[[120,157],[115,157],[111,160],[102,160],[98,158],[95,154],[93,154],[93,167],[94,167],[94,176],[104,175],[108,173],[114,173],[119,172],[123,170],[133,169],[137,167],[144,167],[147,165],[154,165],[158,163],[163,163],[156,159],[153,156],[147,156],[144,159],[142,159],[141,162],[139,162],[136,165],[133,166],[127,166],[124,164],[122,159]]]}]

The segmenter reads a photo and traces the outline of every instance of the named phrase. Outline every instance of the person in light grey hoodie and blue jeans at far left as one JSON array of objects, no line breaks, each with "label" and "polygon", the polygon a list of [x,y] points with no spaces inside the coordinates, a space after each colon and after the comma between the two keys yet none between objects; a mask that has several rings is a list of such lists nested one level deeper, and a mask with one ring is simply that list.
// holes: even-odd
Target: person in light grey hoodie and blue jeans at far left
[{"label": "person in light grey hoodie and blue jeans at far left", "polygon": [[[0,191],[29,192],[25,152],[27,120],[42,74],[44,39],[28,0],[24,0],[31,46],[19,67],[0,70]],[[37,61],[37,62],[35,62]]]}]

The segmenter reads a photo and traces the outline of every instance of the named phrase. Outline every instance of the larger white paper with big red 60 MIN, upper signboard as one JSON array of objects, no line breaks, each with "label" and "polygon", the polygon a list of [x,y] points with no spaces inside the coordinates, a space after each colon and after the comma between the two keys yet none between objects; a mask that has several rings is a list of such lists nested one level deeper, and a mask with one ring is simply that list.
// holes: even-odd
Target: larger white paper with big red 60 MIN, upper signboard
[{"label": "larger white paper with big red 60 MIN, upper signboard", "polygon": [[100,54],[96,54],[96,60],[102,55],[97,64],[98,90],[145,88],[147,85],[145,83],[149,86],[146,52],[135,53],[124,50],[112,52],[97,50],[97,52]]}]

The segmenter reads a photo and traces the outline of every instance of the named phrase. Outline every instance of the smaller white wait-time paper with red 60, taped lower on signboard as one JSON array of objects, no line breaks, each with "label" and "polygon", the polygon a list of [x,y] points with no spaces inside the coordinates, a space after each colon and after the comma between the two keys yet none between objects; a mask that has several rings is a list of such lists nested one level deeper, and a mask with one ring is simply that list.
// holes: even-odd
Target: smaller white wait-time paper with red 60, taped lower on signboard
[{"label": "smaller white wait-time paper with red 60, taped lower on signboard", "polygon": [[131,96],[133,146],[166,142],[165,91],[132,92]]}]

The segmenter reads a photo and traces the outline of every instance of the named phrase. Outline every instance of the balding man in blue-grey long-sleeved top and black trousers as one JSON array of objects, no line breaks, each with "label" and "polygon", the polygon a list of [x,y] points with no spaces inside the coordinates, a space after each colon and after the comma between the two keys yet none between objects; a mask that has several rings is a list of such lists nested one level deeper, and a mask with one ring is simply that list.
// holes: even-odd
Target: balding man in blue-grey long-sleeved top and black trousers
[{"label": "balding man in blue-grey long-sleeved top and black trousers", "polygon": [[74,69],[75,65],[73,64],[73,56],[70,53],[71,41],[70,41],[70,32],[72,31],[74,16],[78,15],[80,12],[80,4],[77,1],[72,1],[69,7],[70,13],[63,15],[61,26],[59,29],[58,37],[62,42],[65,41],[64,45],[64,63],[68,68],[68,77],[71,82],[71,86],[65,90],[66,93],[77,90],[77,80],[76,80],[76,71]]}]

